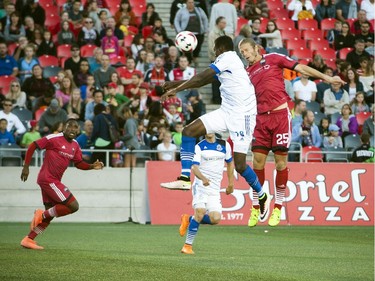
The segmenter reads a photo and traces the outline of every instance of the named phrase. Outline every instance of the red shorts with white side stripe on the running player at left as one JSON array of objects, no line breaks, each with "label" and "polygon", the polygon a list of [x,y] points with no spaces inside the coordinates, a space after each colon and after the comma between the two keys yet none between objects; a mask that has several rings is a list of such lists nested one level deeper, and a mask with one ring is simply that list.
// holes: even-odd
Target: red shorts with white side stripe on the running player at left
[{"label": "red shorts with white side stripe on the running player at left", "polygon": [[70,190],[59,181],[38,182],[44,204],[61,204],[67,202],[73,194]]}]

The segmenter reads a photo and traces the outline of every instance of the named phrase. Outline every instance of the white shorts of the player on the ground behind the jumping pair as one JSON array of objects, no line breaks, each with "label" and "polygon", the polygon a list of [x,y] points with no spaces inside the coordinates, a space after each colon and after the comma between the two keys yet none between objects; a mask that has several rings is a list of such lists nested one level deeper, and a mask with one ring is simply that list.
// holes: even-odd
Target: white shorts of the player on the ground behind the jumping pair
[{"label": "white shorts of the player on the ground behind the jumping pair", "polygon": [[204,186],[201,182],[194,181],[192,193],[194,209],[206,209],[207,213],[218,212],[221,214],[220,189],[213,190],[208,186]]}]

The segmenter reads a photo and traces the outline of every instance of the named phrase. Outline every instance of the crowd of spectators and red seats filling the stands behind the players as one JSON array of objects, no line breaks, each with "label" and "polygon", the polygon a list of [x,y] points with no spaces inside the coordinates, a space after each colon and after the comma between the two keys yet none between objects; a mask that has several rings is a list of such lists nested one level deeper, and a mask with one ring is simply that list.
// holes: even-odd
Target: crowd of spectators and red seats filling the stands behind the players
[{"label": "crowd of spectators and red seats filling the stands behind the players", "polygon": [[[106,162],[95,149],[154,149],[158,153],[152,159],[178,159],[174,152],[182,128],[204,114],[205,105],[197,90],[160,102],[161,86],[196,75],[205,35],[213,61],[213,42],[225,34],[236,47],[241,39],[253,38],[264,54],[288,55],[347,82],[330,85],[285,70],[292,150],[365,147],[372,151],[365,160],[374,161],[373,0],[175,0],[169,23],[176,32],[196,35],[198,47],[191,54],[178,51],[154,4],[145,1],[1,4],[2,146],[27,147],[76,118],[82,128],[78,143],[94,149],[84,153],[87,161]],[[220,103],[217,83],[212,85],[214,103]],[[140,155],[110,153],[110,165],[129,167]],[[358,159],[352,157],[364,160]],[[290,160],[302,159],[291,154]]]}]

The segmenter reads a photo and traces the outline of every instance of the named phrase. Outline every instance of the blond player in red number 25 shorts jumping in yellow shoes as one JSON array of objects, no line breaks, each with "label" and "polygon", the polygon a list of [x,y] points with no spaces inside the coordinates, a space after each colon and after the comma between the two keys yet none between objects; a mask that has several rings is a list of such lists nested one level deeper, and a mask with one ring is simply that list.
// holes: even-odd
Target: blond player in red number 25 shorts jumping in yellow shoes
[{"label": "blond player in red number 25 shorts jumping in yellow shoes", "polygon": [[[258,115],[254,130],[252,152],[254,154],[254,172],[261,185],[265,180],[264,167],[270,150],[274,152],[276,166],[276,195],[270,226],[280,222],[282,202],[285,200],[285,189],[288,182],[288,149],[291,140],[291,115],[287,102],[290,97],[285,91],[283,68],[298,71],[302,74],[323,79],[328,83],[345,82],[340,77],[330,77],[311,67],[299,64],[291,58],[271,53],[259,54],[259,47],[252,39],[243,39],[239,43],[242,56],[249,66],[246,71],[255,87]],[[253,193],[253,208],[249,226],[256,226],[259,217],[258,197]]]}]

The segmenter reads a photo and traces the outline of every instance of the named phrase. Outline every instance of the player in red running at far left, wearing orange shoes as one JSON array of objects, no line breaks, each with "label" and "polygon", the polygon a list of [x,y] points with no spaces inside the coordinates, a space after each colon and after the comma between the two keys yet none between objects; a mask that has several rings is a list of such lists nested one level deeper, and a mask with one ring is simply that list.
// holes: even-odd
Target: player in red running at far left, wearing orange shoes
[{"label": "player in red running at far left, wearing orange shoes", "polygon": [[45,149],[46,154],[37,183],[39,184],[45,211],[35,210],[30,225],[29,234],[22,239],[21,246],[34,250],[43,250],[35,237],[42,233],[54,217],[62,217],[78,211],[79,205],[70,190],[61,183],[61,178],[73,161],[75,166],[81,170],[99,170],[103,163],[98,160],[94,164],[88,164],[82,160],[82,152],[74,139],[79,132],[79,124],[75,119],[66,121],[64,131],[52,134],[33,142],[25,157],[25,164],[21,173],[21,180],[26,181],[29,176],[29,165],[35,149]]}]

